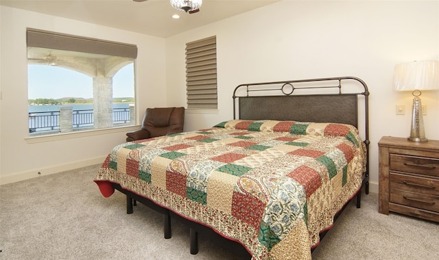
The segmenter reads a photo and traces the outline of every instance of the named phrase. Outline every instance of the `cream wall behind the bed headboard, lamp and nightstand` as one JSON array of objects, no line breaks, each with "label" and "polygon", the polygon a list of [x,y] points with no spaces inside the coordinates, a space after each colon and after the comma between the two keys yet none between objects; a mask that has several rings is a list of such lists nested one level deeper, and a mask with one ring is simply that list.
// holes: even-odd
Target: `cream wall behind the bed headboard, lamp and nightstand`
[{"label": "cream wall behind the bed headboard, lamp and nightstand", "polygon": [[[383,135],[410,134],[412,96],[394,92],[395,64],[439,60],[439,1],[281,1],[167,39],[167,101],[185,105],[185,43],[217,36],[217,113],[189,114],[186,130],[233,116],[240,83],[355,76],[370,90],[370,181],[377,192]],[[425,91],[425,134],[439,139],[439,91]],[[396,104],[405,116],[396,116]]]}]

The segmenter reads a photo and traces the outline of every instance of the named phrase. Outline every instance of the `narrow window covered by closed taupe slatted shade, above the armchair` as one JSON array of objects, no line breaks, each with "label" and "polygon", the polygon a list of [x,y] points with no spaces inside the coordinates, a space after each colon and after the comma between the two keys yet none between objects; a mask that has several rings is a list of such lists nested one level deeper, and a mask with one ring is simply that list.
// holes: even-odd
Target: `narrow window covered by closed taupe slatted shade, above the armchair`
[{"label": "narrow window covered by closed taupe slatted shade, above the armchair", "polygon": [[186,44],[187,108],[217,108],[216,36]]}]

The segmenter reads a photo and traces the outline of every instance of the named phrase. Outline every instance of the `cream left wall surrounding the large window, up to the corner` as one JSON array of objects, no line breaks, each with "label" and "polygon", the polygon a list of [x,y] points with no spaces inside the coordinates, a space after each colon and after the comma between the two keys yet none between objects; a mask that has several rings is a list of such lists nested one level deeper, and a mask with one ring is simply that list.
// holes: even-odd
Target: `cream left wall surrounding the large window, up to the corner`
[{"label": "cream left wall surrounding the large window, up to the corner", "polygon": [[165,39],[0,6],[1,92],[0,183],[103,162],[125,141],[126,129],[29,144],[27,127],[26,27],[137,44],[137,109],[166,104]]}]

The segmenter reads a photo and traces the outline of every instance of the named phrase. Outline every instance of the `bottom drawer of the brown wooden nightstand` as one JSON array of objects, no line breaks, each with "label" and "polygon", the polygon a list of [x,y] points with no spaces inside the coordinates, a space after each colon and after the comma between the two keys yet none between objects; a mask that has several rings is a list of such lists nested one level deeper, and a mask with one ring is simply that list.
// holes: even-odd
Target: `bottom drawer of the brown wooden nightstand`
[{"label": "bottom drawer of the brown wooden nightstand", "polygon": [[390,189],[390,203],[439,212],[439,196]]}]

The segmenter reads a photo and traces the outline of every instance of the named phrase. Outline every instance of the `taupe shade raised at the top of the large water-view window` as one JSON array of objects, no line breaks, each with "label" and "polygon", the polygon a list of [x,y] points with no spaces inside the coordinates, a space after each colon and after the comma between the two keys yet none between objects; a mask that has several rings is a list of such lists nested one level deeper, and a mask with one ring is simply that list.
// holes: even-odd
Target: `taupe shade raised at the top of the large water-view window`
[{"label": "taupe shade raised at the top of the large water-view window", "polygon": [[52,31],[27,28],[27,47],[39,47],[64,51],[78,51],[119,57],[137,57],[137,46],[121,42],[111,42]]}]

